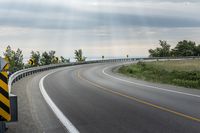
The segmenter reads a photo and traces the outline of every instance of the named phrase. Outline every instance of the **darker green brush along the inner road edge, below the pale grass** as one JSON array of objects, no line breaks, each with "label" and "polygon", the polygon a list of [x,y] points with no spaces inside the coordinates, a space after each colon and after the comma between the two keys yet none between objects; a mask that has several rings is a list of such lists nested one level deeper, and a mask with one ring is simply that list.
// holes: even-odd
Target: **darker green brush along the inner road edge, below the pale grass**
[{"label": "darker green brush along the inner road edge, below the pale grass", "polygon": [[188,88],[200,89],[200,71],[167,71],[156,64],[138,62],[129,66],[122,66],[118,72],[153,82],[168,83]]}]

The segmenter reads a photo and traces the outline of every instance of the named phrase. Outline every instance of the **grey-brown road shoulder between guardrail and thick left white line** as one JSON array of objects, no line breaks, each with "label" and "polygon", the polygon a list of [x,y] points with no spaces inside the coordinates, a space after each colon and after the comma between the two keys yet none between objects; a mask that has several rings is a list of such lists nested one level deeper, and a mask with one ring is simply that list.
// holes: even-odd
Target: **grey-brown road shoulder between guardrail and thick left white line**
[{"label": "grey-brown road shoulder between guardrail and thick left white line", "polygon": [[39,80],[48,72],[26,77],[13,85],[18,96],[18,122],[8,123],[8,133],[63,133],[66,130],[44,101]]}]

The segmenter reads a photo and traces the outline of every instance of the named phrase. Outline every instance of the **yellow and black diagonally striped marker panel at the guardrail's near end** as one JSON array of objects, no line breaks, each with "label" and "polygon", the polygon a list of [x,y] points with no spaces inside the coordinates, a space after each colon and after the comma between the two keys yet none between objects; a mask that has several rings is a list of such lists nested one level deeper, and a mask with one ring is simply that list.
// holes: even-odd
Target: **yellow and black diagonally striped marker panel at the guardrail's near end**
[{"label": "yellow and black diagonally striped marker panel at the guardrail's near end", "polygon": [[0,121],[11,120],[7,72],[0,73],[0,117]]}]

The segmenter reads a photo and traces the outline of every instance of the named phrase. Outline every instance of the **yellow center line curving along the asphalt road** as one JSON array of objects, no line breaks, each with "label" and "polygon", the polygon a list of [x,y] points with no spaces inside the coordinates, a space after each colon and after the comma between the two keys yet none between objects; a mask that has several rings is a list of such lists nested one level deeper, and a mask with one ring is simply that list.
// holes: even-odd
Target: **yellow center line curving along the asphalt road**
[{"label": "yellow center line curving along the asphalt road", "polygon": [[144,105],[148,105],[148,106],[151,106],[151,107],[154,107],[154,108],[157,108],[159,110],[163,110],[163,111],[166,111],[166,112],[169,112],[169,113],[172,113],[172,114],[175,114],[175,115],[178,115],[178,116],[181,116],[181,117],[184,117],[184,118],[187,118],[189,120],[193,120],[193,121],[196,121],[196,122],[199,122],[200,123],[200,118],[195,118],[195,117],[192,117],[192,116],[189,116],[189,115],[186,115],[186,114],[183,114],[183,113],[180,113],[180,112],[177,112],[177,111],[174,111],[174,110],[171,110],[171,109],[168,109],[168,108],[165,108],[165,107],[161,107],[159,105],[155,105],[153,103],[150,103],[150,102],[147,102],[147,101],[144,101],[144,100],[141,100],[141,99],[138,99],[136,97],[133,97],[133,96],[128,96],[126,94],[123,94],[123,93],[120,93],[120,92],[117,92],[117,91],[114,91],[114,90],[111,90],[111,89],[108,89],[106,87],[103,87],[99,84],[96,84],[94,82],[91,82],[85,78],[83,78],[81,75],[80,75],[80,71],[78,71],[78,74],[77,74],[78,78],[81,79],[81,80],[84,80],[88,83],[90,83],[91,85],[93,86],[96,86],[100,89],[103,89],[104,91],[107,91],[107,92],[110,92],[110,93],[113,93],[113,94],[116,94],[116,95],[119,95],[119,96],[122,96],[122,97],[125,97],[125,98],[128,98],[128,99],[131,99],[131,100],[134,100],[138,103],[142,103]]}]

